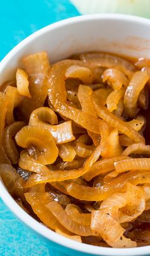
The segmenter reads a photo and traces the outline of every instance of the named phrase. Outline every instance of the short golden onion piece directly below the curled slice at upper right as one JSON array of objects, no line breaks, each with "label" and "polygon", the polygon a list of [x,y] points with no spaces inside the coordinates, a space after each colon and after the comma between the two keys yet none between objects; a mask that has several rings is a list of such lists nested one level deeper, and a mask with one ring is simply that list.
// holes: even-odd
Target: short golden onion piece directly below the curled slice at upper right
[{"label": "short golden onion piece directly below the curled slice at upper right", "polygon": [[109,94],[106,100],[106,104],[107,104],[107,109],[110,112],[117,109],[119,100],[123,98],[124,94],[125,94],[125,88],[122,88],[120,90],[113,90],[113,92]]}]

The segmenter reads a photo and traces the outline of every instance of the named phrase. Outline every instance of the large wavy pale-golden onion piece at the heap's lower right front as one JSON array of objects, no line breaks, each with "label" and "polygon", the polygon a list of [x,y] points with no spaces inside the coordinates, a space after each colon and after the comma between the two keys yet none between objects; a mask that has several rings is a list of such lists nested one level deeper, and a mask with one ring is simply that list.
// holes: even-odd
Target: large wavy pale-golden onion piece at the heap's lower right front
[{"label": "large wavy pale-golden onion piece at the heap's lower right front", "polygon": [[91,227],[93,231],[97,231],[102,236],[108,245],[135,247],[136,242],[125,238],[123,235],[125,229],[119,223],[133,220],[144,211],[144,208],[145,200],[142,188],[129,183],[126,193],[113,194],[102,202],[98,211],[92,211]]}]

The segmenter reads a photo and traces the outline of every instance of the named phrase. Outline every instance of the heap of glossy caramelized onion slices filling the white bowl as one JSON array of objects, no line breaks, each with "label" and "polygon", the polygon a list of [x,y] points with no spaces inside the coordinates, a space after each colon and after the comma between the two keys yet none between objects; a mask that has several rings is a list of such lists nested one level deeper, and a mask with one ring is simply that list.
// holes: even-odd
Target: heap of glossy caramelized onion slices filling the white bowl
[{"label": "heap of glossy caramelized onion slices filling the white bowl", "polygon": [[[1,85],[1,178],[50,229],[90,245],[149,245],[150,60],[22,59]],[[147,123],[146,123],[147,121]]]}]

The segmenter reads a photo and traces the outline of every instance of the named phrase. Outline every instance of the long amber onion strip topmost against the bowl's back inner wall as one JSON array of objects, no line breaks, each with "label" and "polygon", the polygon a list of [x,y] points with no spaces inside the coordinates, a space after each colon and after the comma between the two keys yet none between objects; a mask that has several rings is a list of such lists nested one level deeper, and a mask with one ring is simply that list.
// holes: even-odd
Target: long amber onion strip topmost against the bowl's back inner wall
[{"label": "long amber onion strip topmost against the bowl's back inner wall", "polygon": [[114,66],[125,66],[129,71],[135,71],[135,66],[121,57],[111,55],[109,53],[90,52],[81,53],[79,58],[85,63],[90,63],[93,66],[113,68]]}]

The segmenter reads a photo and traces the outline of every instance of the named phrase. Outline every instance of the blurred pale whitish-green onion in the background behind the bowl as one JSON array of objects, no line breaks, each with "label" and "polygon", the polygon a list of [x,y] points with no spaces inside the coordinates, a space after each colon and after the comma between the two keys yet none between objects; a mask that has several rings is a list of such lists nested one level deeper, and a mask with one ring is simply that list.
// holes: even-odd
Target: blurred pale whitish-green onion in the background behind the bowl
[{"label": "blurred pale whitish-green onion in the background behind the bowl", "polygon": [[81,14],[126,13],[150,18],[149,0],[70,0]]}]

